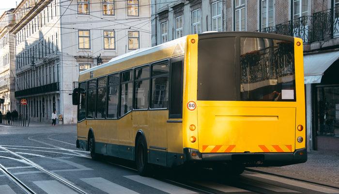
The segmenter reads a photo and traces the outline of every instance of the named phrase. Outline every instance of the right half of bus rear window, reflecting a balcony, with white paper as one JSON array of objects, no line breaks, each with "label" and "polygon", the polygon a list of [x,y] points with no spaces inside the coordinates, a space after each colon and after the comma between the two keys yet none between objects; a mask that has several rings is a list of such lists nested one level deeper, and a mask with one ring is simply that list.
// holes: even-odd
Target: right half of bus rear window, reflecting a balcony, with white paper
[{"label": "right half of bus rear window, reflecting a balcony, with white paper", "polygon": [[241,37],[240,92],[245,101],[295,101],[293,42]]}]

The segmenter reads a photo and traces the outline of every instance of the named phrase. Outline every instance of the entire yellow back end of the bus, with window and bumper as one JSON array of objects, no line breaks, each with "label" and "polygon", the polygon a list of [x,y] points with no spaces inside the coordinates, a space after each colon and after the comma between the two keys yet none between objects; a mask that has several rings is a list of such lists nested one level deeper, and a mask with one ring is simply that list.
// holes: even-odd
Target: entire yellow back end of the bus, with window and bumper
[{"label": "entire yellow back end of the bus, with window and bumper", "polygon": [[307,161],[302,40],[260,32],[189,35],[185,161]]}]

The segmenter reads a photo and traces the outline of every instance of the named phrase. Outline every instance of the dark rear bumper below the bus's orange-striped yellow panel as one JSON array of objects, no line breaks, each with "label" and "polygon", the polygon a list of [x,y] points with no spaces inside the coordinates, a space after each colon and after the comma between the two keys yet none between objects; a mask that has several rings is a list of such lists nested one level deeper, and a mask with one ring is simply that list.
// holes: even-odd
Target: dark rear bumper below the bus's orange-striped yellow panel
[{"label": "dark rear bumper below the bus's orange-striped yellow panel", "polygon": [[288,153],[200,153],[193,148],[184,148],[185,162],[238,162],[246,166],[284,166],[307,161],[306,148]]}]

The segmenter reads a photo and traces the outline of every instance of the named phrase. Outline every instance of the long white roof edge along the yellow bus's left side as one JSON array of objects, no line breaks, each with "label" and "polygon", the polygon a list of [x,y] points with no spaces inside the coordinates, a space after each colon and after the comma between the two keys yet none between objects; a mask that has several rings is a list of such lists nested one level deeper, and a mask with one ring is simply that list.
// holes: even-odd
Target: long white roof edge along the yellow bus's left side
[{"label": "long white roof edge along the yellow bus's left side", "polygon": [[[79,75],[83,75],[83,74],[89,73],[89,72],[94,71],[94,70],[105,68],[105,67],[110,66],[110,65],[119,64],[119,63],[121,63],[123,61],[127,61],[127,60],[135,58],[135,57],[151,54],[153,52],[156,52],[156,51],[159,51],[159,50],[162,50],[162,49],[167,49],[167,48],[175,47],[178,44],[180,45],[180,44],[185,43],[186,37],[187,36],[183,36],[181,38],[177,38],[175,40],[172,40],[172,41],[169,41],[169,42],[166,42],[166,43],[154,46],[154,47],[141,48],[141,49],[137,49],[137,50],[134,50],[134,51],[122,54],[120,56],[112,58],[111,60],[109,60],[109,62],[107,62],[107,63],[105,63],[103,65],[98,65],[98,66],[92,67],[90,69],[81,71],[79,73]],[[185,49],[185,48],[183,48],[183,49]],[[182,50],[182,51],[184,52],[184,50]]]}]

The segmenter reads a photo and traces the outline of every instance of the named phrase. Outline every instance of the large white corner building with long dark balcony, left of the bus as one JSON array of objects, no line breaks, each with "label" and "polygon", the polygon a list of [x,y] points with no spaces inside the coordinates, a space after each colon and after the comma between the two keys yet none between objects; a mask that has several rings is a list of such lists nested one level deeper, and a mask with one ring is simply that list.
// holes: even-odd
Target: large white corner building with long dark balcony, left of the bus
[{"label": "large white corner building with long dark balcony, left of the bus", "polygon": [[151,46],[148,0],[22,0],[14,15],[15,98],[32,121],[56,110],[59,122],[76,123],[79,71]]}]

